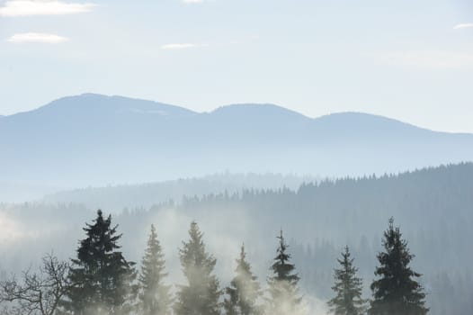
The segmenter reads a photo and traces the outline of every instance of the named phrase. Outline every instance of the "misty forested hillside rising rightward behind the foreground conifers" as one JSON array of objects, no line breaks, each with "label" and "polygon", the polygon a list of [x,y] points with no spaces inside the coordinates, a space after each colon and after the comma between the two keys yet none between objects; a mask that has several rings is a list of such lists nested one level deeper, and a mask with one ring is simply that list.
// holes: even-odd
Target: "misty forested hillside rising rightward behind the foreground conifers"
[{"label": "misty forested hillside rising rightward behind the foreground conifers", "polygon": [[[4,273],[18,271],[54,249],[71,257],[94,209],[74,204],[3,204],[1,238]],[[107,211],[107,209],[103,209]],[[114,220],[123,251],[138,261],[150,224],[156,224],[170,276],[179,279],[175,248],[192,220],[199,222],[217,258],[216,273],[228,283],[234,258],[245,242],[260,278],[274,255],[274,237],[284,229],[304,292],[331,297],[335,258],[345,245],[367,285],[381,250],[381,234],[394,217],[424,274],[430,314],[468,314],[473,294],[473,164],[425,168],[400,175],[344,178],[307,183],[298,189],[252,190],[184,197],[182,202],[129,208]],[[14,227],[14,229],[13,229]],[[9,234],[15,230],[16,234]],[[28,249],[26,249],[28,248]]]}]

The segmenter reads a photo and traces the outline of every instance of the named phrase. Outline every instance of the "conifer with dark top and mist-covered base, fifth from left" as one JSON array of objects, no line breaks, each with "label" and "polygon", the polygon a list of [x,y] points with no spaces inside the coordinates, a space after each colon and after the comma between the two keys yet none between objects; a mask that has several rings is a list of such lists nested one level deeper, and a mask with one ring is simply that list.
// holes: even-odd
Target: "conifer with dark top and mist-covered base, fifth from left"
[{"label": "conifer with dark top and mist-covered base, fifth from left", "polygon": [[282,230],[277,238],[279,239],[278,255],[271,266],[274,275],[268,281],[271,297],[267,311],[273,315],[299,313],[302,301],[297,287],[299,275],[294,273],[296,267],[289,263],[290,254],[286,253],[288,245],[282,236]]}]

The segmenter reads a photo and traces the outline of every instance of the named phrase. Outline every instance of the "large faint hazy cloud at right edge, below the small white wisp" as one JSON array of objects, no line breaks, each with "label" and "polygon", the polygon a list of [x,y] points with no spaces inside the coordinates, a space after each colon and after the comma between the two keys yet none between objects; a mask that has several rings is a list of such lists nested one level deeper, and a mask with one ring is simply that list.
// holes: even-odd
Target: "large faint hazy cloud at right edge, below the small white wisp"
[{"label": "large faint hazy cloud at right edge, below the small white wisp", "polygon": [[384,64],[431,69],[464,69],[473,67],[473,53],[452,51],[396,51],[376,56]]}]

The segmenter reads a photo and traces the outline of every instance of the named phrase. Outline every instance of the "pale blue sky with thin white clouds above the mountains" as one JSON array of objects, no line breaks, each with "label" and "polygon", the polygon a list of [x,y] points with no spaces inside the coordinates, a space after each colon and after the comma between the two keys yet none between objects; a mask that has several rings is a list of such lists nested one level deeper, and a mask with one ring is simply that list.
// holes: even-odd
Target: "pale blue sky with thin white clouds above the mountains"
[{"label": "pale blue sky with thin white clouds above the mountains", "polygon": [[83,93],[473,133],[473,1],[0,0],[0,115]]}]

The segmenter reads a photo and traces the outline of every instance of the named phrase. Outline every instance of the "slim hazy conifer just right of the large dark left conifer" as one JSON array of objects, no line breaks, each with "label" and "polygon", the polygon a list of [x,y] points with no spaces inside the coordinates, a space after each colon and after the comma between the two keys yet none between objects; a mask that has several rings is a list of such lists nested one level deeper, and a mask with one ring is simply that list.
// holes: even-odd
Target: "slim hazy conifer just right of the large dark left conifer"
[{"label": "slim hazy conifer just right of the large dark left conifer", "polygon": [[157,239],[156,229],[151,225],[151,232],[147,239],[147,249],[141,262],[139,275],[140,284],[140,314],[166,315],[171,313],[173,302],[170,285],[165,285],[165,255]]}]

